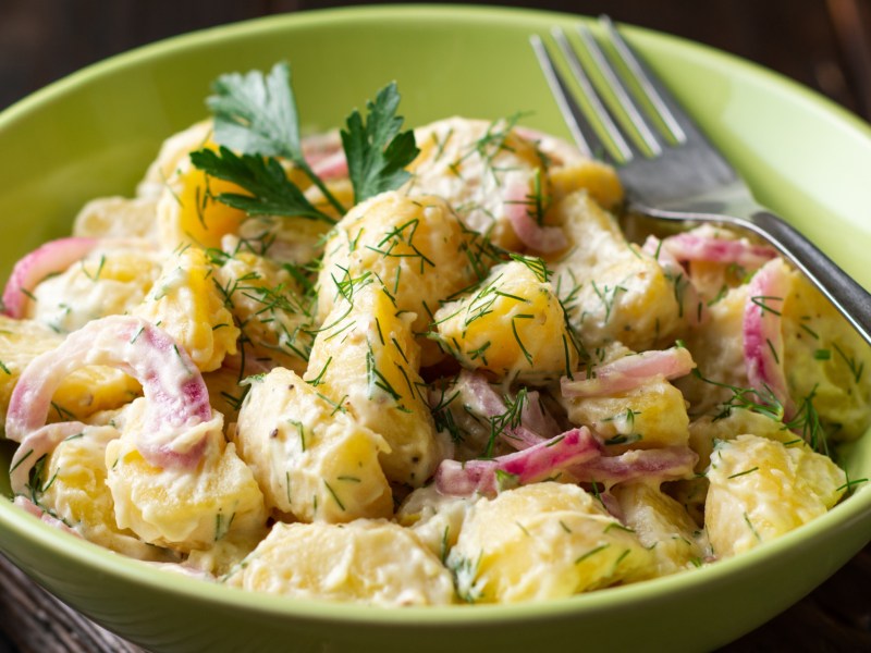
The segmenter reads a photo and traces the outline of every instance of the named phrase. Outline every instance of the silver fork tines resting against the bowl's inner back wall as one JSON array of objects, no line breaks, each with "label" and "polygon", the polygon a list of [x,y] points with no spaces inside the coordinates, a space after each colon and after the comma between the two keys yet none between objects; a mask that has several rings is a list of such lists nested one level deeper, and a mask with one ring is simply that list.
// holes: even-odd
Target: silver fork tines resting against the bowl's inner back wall
[{"label": "silver fork tines resting against the bowl's inner back wall", "polygon": [[[626,163],[637,157],[660,155],[668,146],[668,138],[672,143],[683,144],[688,131],[697,132],[695,125],[662,83],[633,52],[611,19],[601,16],[599,22],[602,27],[599,37],[586,24],[577,25],[577,36],[588,56],[587,63],[562,28],[554,27],[552,30],[553,40],[586,101],[590,119],[575,99],[566,76],[560,71],[541,37],[530,37],[551,91],[578,147],[589,156],[613,163]],[[606,93],[597,90],[593,79],[598,79],[599,88]],[[602,95],[608,93],[612,96],[612,106],[602,99]],[[641,100],[643,108],[633,96]],[[617,107],[619,110],[616,110]],[[666,138],[657,123],[651,121],[651,114],[659,119]],[[621,118],[630,125],[629,130],[621,127]],[[600,138],[597,125],[604,133],[604,140]],[[613,155],[609,152],[609,144],[614,150]],[[639,148],[639,144],[643,149]]]}]

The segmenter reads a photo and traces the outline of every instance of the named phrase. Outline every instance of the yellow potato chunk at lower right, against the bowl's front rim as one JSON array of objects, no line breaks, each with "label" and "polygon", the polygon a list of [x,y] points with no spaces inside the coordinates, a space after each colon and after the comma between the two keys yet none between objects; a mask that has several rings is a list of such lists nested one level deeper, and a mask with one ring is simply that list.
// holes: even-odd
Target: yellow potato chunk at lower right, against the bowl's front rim
[{"label": "yellow potato chunk at lower right, against the bowl's front rim", "polygon": [[800,441],[787,446],[747,434],[716,447],[707,476],[704,526],[720,558],[819,517],[847,486],[842,469]]}]

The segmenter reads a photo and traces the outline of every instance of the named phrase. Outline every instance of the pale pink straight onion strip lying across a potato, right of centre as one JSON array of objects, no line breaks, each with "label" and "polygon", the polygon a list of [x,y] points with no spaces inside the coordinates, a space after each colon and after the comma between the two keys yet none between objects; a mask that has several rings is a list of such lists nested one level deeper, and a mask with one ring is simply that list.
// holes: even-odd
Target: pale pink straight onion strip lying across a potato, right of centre
[{"label": "pale pink straight onion strip lying across a potato, right of centre", "polygon": [[563,377],[560,389],[564,397],[600,397],[634,390],[657,378],[677,379],[696,367],[686,347],[642,352],[624,356],[590,371],[580,370],[578,378]]}]

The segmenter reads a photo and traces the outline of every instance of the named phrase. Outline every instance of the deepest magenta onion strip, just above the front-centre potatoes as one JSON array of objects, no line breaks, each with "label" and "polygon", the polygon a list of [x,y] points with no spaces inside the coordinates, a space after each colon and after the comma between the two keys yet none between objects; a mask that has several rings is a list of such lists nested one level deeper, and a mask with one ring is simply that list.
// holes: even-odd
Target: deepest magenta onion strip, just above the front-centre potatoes
[{"label": "deepest magenta onion strip, just above the front-centre potatoes", "polygon": [[601,444],[589,429],[581,427],[492,460],[443,460],[436,470],[436,488],[447,496],[495,496],[500,489],[500,476],[507,476],[512,482],[526,485],[600,454]]}]

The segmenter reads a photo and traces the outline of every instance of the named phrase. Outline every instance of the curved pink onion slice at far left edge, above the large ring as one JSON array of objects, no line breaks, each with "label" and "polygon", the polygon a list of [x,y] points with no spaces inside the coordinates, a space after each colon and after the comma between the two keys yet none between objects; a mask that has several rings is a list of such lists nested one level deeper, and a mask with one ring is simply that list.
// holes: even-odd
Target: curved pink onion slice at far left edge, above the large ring
[{"label": "curved pink onion slice at far left edge, above the large ring", "polygon": [[50,241],[34,249],[12,268],[3,289],[3,310],[10,318],[22,319],[29,294],[54,272],[63,272],[74,262],[85,258],[99,243],[99,238],[71,236]]}]

